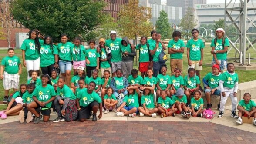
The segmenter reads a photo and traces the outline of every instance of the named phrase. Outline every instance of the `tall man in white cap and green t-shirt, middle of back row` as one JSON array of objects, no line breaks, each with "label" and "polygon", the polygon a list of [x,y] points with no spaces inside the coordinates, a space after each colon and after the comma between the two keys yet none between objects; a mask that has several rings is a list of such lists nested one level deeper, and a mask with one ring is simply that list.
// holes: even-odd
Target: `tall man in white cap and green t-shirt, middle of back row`
[{"label": "tall man in white cap and green t-shirt, middle of back row", "polygon": [[117,38],[117,33],[116,31],[111,31],[110,32],[110,39],[106,40],[105,46],[109,47],[111,50],[111,72],[112,72],[112,77],[115,77],[115,71],[118,68],[122,68],[122,55],[121,55],[121,38]]}]

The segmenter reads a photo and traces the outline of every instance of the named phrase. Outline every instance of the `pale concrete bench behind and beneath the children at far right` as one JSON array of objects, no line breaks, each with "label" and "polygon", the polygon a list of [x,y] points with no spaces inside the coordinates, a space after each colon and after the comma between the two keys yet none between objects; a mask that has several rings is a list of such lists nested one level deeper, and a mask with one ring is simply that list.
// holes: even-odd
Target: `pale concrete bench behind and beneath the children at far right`
[{"label": "pale concrete bench behind and beneath the children at far right", "polygon": [[[252,99],[256,98],[256,80],[238,84],[238,90],[237,90],[237,94],[236,94],[237,103],[239,103],[239,101],[241,99],[243,99],[244,93],[251,94]],[[205,93],[202,93],[202,98],[204,100],[204,107],[207,107]],[[217,104],[219,104],[219,96],[212,95],[211,103],[212,103],[212,108],[217,108]],[[226,106],[229,106],[231,104],[232,104],[231,99],[228,98]]]}]

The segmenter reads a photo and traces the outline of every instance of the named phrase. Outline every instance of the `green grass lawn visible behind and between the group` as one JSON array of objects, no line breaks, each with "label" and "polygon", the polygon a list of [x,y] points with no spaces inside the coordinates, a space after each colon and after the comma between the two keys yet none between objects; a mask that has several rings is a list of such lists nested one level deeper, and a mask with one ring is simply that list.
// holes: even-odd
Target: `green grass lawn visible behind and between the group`
[{"label": "green grass lawn visible behind and between the group", "polygon": [[[211,50],[210,46],[206,45],[204,49],[203,70],[201,71],[201,77],[204,77],[207,73],[211,71],[211,67],[209,64],[211,64],[211,61],[212,61],[212,54],[210,53],[210,50]],[[251,54],[251,58],[256,58],[256,52],[252,48],[249,50],[249,52]],[[15,53],[17,56],[20,57],[20,60],[22,61],[21,50],[17,49],[15,50]],[[138,51],[137,51],[137,54],[138,54]],[[7,50],[0,50],[0,60],[2,60],[2,58],[6,55],[7,55]],[[228,58],[234,58],[234,57],[235,57],[235,50],[232,49],[228,54]],[[229,62],[233,62],[233,61],[229,60]],[[251,60],[251,63],[256,63],[256,60]],[[168,61],[166,62],[166,65],[168,67],[168,74],[171,74],[169,57],[168,57]],[[185,52],[183,57],[183,69],[184,69],[183,76],[187,74],[187,71],[186,71],[187,65],[188,65],[188,61],[187,61],[186,52]],[[134,63],[134,67],[138,69],[138,63],[137,65]],[[236,73],[238,73],[238,76],[239,76],[239,83],[256,80],[255,70],[248,70],[248,71],[236,70]],[[27,69],[25,67],[23,67],[22,74],[20,75],[20,84],[22,83],[27,83]],[[2,93],[0,93],[0,101],[1,101],[3,100],[3,91],[4,91],[3,80],[0,80],[0,91],[2,91]],[[12,93],[12,90],[11,90],[11,93]]]}]

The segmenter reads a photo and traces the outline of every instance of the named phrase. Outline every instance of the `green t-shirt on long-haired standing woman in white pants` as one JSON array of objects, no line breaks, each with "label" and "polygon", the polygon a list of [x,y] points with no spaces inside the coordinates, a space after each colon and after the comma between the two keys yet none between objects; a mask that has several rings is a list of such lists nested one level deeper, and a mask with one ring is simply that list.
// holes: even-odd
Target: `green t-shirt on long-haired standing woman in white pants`
[{"label": "green t-shirt on long-haired standing woman in white pants", "polygon": [[[39,40],[39,42],[41,43],[42,40]],[[20,49],[25,51],[25,60],[36,60],[39,57],[39,53],[38,50],[36,50],[34,39],[25,39]]]}]

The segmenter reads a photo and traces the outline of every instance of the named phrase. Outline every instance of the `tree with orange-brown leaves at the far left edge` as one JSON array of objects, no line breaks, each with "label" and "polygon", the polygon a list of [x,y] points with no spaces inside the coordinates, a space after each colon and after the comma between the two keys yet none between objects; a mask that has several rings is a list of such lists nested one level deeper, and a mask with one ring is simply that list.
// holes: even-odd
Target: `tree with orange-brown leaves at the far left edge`
[{"label": "tree with orange-brown leaves at the far left edge", "polygon": [[0,19],[2,20],[3,24],[3,30],[6,32],[3,37],[4,39],[7,39],[8,47],[10,47],[10,35],[13,33],[13,26],[14,26],[14,21],[13,21],[13,16],[11,14],[10,10],[10,2],[8,0],[1,0],[0,1],[0,7],[1,7],[1,12],[0,12]]}]

